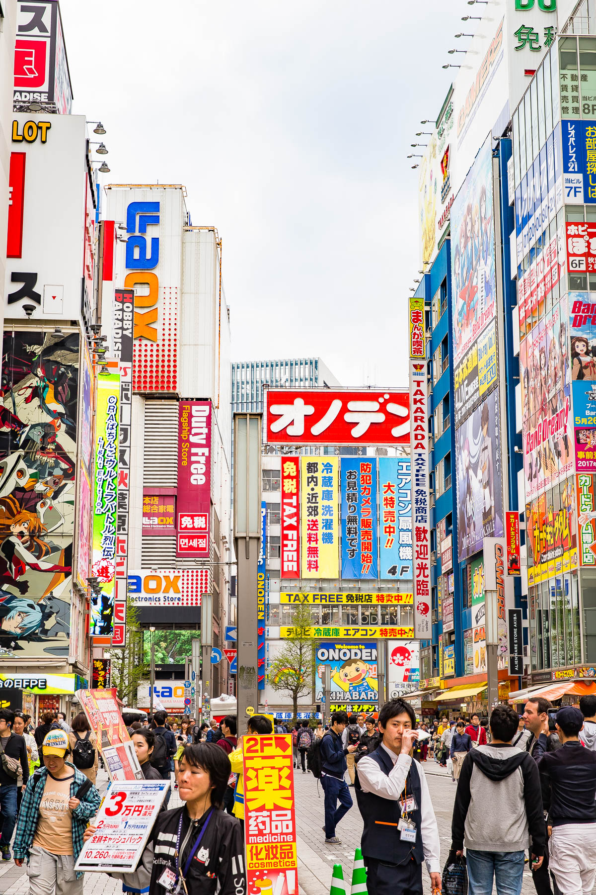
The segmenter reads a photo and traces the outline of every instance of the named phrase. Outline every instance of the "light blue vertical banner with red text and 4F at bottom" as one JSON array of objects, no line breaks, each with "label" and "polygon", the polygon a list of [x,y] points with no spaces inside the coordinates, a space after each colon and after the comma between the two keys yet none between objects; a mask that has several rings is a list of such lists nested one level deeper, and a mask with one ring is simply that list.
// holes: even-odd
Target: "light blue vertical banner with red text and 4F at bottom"
[{"label": "light blue vertical banner with red text and 4F at bottom", "polygon": [[379,464],[379,577],[411,581],[412,472],[409,456],[380,456]]}]

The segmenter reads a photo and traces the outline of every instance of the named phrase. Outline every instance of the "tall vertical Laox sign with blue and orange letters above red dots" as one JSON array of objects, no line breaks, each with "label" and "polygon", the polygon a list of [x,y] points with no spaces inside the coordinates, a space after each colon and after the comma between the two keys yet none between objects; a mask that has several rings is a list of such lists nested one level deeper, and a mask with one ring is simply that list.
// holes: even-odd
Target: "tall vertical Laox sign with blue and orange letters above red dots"
[{"label": "tall vertical Laox sign with blue and orange letters above red dots", "polygon": [[[178,388],[178,289],[160,285],[164,264],[157,271],[160,204],[133,201],[126,209],[126,232],[130,235],[125,265],[134,272],[126,275],[124,286],[135,289],[133,387],[139,392],[175,392]],[[174,243],[176,234],[168,235]]]}]

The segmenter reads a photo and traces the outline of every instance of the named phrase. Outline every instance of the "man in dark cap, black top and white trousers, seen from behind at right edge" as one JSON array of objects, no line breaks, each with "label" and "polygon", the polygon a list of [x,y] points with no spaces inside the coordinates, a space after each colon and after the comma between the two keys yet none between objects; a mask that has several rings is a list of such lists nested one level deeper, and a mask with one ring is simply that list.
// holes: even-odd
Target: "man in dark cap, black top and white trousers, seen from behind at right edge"
[{"label": "man in dark cap, black top and white trousers, seen from behind at right edge", "polygon": [[538,763],[549,814],[550,872],[563,895],[587,895],[596,880],[596,754],[583,748],[583,712],[574,705],[558,710],[556,724],[561,747]]}]

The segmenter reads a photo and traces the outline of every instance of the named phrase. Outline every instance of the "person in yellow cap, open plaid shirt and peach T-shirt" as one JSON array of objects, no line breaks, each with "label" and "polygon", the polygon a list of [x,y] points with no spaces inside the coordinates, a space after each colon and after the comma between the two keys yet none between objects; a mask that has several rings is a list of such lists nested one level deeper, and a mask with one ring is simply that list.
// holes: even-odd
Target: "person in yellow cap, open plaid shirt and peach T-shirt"
[{"label": "person in yellow cap, open plaid shirt and peach T-shirt", "polygon": [[14,863],[27,860],[29,895],[82,895],[83,874],[74,865],[88,820],[100,797],[81,771],[67,761],[64,730],[50,730],[42,744],[45,767],[29,778],[14,837]]}]

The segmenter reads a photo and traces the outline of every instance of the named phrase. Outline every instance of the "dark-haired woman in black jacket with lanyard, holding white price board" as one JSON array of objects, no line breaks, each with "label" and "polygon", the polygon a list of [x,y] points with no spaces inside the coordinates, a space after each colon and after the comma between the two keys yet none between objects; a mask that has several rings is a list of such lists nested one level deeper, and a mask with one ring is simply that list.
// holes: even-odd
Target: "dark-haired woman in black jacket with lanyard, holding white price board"
[{"label": "dark-haired woman in black jacket with lanyard, holding white price board", "polygon": [[[271,733],[271,724],[269,728]],[[230,759],[215,743],[184,747],[178,774],[184,804],[157,816],[134,873],[110,874],[122,880],[125,891],[246,895],[242,831],[222,811],[230,772]],[[95,830],[89,826],[85,839]]]}]

